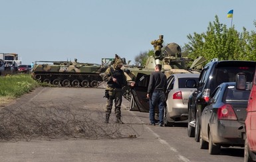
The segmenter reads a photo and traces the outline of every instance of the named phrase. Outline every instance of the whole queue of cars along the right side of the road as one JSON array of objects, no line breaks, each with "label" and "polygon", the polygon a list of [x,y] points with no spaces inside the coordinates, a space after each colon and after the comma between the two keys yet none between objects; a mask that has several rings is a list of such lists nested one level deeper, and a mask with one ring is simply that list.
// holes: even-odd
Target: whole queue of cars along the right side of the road
[{"label": "whole queue of cars along the right side of the road", "polygon": [[[166,90],[164,125],[188,119],[188,136],[194,137],[201,149],[209,149],[209,154],[220,153],[221,147],[245,146],[245,161],[256,161],[255,67],[256,61],[213,59],[199,76],[171,75]],[[130,110],[148,112],[146,89],[150,76],[138,76],[132,89]],[[181,81],[182,78],[186,79]],[[246,82],[240,81],[241,78]],[[181,85],[185,85],[184,88]],[[188,90],[189,95],[185,95]]]}]

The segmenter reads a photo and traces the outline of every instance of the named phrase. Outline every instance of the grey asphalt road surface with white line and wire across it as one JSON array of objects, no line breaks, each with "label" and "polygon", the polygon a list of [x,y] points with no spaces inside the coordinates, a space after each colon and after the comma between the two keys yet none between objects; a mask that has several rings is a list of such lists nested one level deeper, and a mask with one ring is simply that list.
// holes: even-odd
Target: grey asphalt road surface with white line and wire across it
[{"label": "grey asphalt road surface with white line and wire across it", "polygon": [[[103,96],[104,89],[39,87],[1,108],[1,112],[12,108],[21,110],[20,115],[15,114],[17,118],[22,115],[21,119],[40,116],[40,113],[51,110],[55,118],[61,118],[59,116],[64,114],[63,120],[68,121],[71,127],[65,125],[68,128],[60,129],[65,130],[62,136],[58,132],[55,132],[55,136],[43,132],[44,136],[37,134],[13,140],[2,139],[0,161],[243,161],[243,148],[240,147],[222,148],[221,155],[209,155],[207,149],[199,149],[199,143],[187,135],[186,122],[176,123],[173,127],[150,126],[148,113],[128,110],[129,102],[126,99],[122,103],[122,120],[125,124],[115,124],[114,108],[110,124],[105,124],[106,99]],[[35,114],[27,117],[24,114],[31,111],[26,112],[23,108],[31,108],[26,110]],[[68,113],[62,111],[57,114],[59,110]],[[87,114],[84,115],[84,112]],[[69,114],[73,114],[72,117]],[[45,124],[43,119],[52,121],[51,116],[47,112],[43,118],[37,118],[41,121],[41,125],[38,124],[41,130]],[[15,121],[15,118],[12,120]],[[4,120],[3,115],[1,120]],[[22,131],[20,127],[19,131]],[[49,127],[55,131],[55,125],[47,125],[44,129],[49,130]],[[72,134],[73,130],[68,130],[72,128],[80,135]],[[87,128],[90,134],[84,133],[88,131],[84,130]],[[72,136],[68,136],[68,133]]]}]

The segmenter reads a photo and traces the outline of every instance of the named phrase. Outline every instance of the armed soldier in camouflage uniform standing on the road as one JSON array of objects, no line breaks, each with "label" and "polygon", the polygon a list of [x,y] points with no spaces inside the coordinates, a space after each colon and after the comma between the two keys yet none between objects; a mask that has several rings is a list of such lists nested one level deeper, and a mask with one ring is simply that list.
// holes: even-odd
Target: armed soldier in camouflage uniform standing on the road
[{"label": "armed soldier in camouflage uniform standing on the road", "polygon": [[[124,71],[120,69],[122,60],[116,59],[114,67],[108,67],[105,71],[104,81],[107,81],[106,93],[108,93],[107,104],[106,104],[106,123],[108,123],[113,101],[114,101],[114,112],[116,114],[116,122],[123,123],[121,120],[121,104],[122,104],[122,87],[127,85]],[[116,82],[113,79],[116,79]]]}]

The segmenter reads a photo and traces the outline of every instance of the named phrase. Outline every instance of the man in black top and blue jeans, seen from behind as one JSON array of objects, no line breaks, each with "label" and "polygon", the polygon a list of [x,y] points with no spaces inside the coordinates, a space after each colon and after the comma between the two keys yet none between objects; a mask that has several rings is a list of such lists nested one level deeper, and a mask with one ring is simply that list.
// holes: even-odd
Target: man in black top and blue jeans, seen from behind
[{"label": "man in black top and blue jeans, seen from behind", "polygon": [[162,65],[157,64],[155,71],[150,74],[147,98],[150,99],[150,125],[156,125],[155,106],[159,109],[159,126],[163,126],[164,119],[164,98],[167,87],[166,75],[161,72]]}]

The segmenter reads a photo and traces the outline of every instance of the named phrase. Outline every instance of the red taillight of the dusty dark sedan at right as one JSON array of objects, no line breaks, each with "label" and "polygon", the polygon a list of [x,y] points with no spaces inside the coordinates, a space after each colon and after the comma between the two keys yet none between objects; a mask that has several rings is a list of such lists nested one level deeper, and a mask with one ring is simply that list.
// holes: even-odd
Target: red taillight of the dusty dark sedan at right
[{"label": "red taillight of the dusty dark sedan at right", "polygon": [[231,104],[224,104],[217,112],[218,118],[221,120],[237,120],[237,116]]}]

